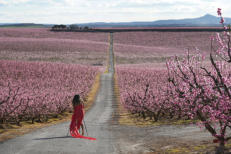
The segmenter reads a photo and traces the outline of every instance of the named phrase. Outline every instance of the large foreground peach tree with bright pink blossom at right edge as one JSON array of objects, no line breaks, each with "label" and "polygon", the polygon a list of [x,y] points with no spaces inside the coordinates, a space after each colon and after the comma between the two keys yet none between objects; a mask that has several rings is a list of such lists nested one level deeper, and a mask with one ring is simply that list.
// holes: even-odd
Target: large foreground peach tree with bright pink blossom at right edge
[{"label": "large foreground peach tree with bright pink blossom at right edge", "polygon": [[[172,89],[170,101],[178,104],[192,119],[199,119],[200,125],[223,149],[225,142],[231,139],[230,28],[224,25],[221,9],[217,12],[224,32],[212,38],[210,63],[206,63],[205,56],[200,53],[188,53],[172,58],[167,67]],[[213,46],[214,41],[217,48]]]}]

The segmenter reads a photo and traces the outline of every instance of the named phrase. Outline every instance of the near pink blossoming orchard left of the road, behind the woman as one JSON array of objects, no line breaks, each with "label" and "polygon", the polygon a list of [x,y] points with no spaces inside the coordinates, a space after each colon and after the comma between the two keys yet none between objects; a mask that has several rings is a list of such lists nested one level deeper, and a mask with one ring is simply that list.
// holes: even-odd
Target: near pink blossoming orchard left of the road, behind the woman
[{"label": "near pink blossoming orchard left of the road, behind the woman", "polygon": [[41,120],[71,109],[74,94],[86,97],[98,67],[0,61],[0,124]]}]

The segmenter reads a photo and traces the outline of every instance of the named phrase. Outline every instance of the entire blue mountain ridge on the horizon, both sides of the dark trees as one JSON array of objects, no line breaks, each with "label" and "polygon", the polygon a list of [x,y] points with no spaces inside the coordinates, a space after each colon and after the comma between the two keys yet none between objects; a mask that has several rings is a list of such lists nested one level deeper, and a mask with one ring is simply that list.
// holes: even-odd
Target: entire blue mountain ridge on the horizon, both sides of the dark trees
[{"label": "entire blue mountain ridge on the horizon, both sides of the dark trees", "polygon": [[[224,18],[225,24],[231,24],[231,18]],[[134,21],[134,22],[89,22],[74,23],[71,25],[99,27],[219,27],[220,17],[205,14],[198,18],[168,19],[156,21]],[[0,27],[52,27],[55,24],[37,23],[0,23]],[[70,25],[70,24],[68,24]]]}]

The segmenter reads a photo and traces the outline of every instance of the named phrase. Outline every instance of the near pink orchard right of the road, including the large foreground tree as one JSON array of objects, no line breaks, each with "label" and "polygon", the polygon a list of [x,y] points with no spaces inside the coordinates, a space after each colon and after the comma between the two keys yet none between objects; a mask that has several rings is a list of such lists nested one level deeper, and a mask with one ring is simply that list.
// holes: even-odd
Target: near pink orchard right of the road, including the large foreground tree
[{"label": "near pink orchard right of the road, including the large foreground tree", "polygon": [[[132,113],[200,120],[220,147],[231,139],[230,27],[212,37],[210,63],[201,53],[167,61],[167,70],[117,67],[121,102]],[[213,42],[219,45],[214,49]],[[224,148],[222,148],[224,149]]]}]

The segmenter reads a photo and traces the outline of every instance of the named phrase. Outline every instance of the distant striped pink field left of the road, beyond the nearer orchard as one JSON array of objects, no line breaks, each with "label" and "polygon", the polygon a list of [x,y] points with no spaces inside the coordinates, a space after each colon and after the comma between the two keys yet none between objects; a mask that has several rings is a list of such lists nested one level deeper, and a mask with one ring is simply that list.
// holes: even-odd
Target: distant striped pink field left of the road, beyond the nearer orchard
[{"label": "distant striped pink field left of the road, beyond the nearer orchard", "polygon": [[1,28],[0,59],[105,65],[108,34]]}]

